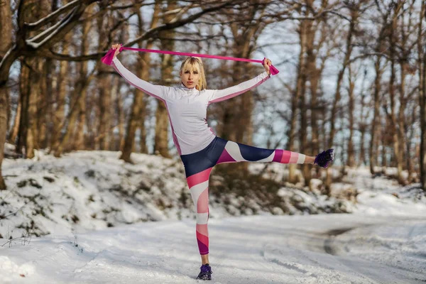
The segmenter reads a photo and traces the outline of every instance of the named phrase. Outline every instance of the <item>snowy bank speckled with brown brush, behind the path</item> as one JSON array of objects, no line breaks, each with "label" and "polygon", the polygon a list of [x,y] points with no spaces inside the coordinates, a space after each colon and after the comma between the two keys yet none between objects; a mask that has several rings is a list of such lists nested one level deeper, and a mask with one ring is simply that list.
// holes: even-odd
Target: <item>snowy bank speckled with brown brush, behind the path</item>
[{"label": "snowy bank speckled with brown brush, behind the path", "polygon": [[[0,191],[0,238],[195,218],[180,160],[133,153],[133,164],[129,164],[119,156],[110,151],[77,151],[55,158],[37,151],[32,160],[5,159],[3,174],[8,190]],[[265,175],[275,169],[275,180],[282,181],[287,167],[274,167]],[[248,185],[240,190],[245,195],[237,195],[215,169],[209,188],[212,219],[354,209],[349,200],[330,198],[300,185],[274,191],[261,182],[245,182]]]}]

